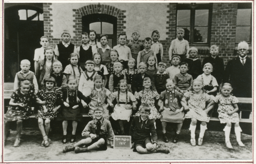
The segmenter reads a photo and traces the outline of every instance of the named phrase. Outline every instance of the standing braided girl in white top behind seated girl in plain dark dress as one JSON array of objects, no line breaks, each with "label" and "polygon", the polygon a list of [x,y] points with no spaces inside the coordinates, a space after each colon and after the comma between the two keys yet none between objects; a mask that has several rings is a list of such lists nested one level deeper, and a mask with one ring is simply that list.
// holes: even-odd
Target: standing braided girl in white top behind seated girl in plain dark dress
[{"label": "standing braided girl in white top behind seated girl in plain dark dress", "polygon": [[82,68],[79,66],[79,55],[72,53],[68,60],[70,61],[70,64],[66,66],[63,73],[66,75],[67,80],[76,79],[77,84],[79,84],[79,79],[83,72]]}]

